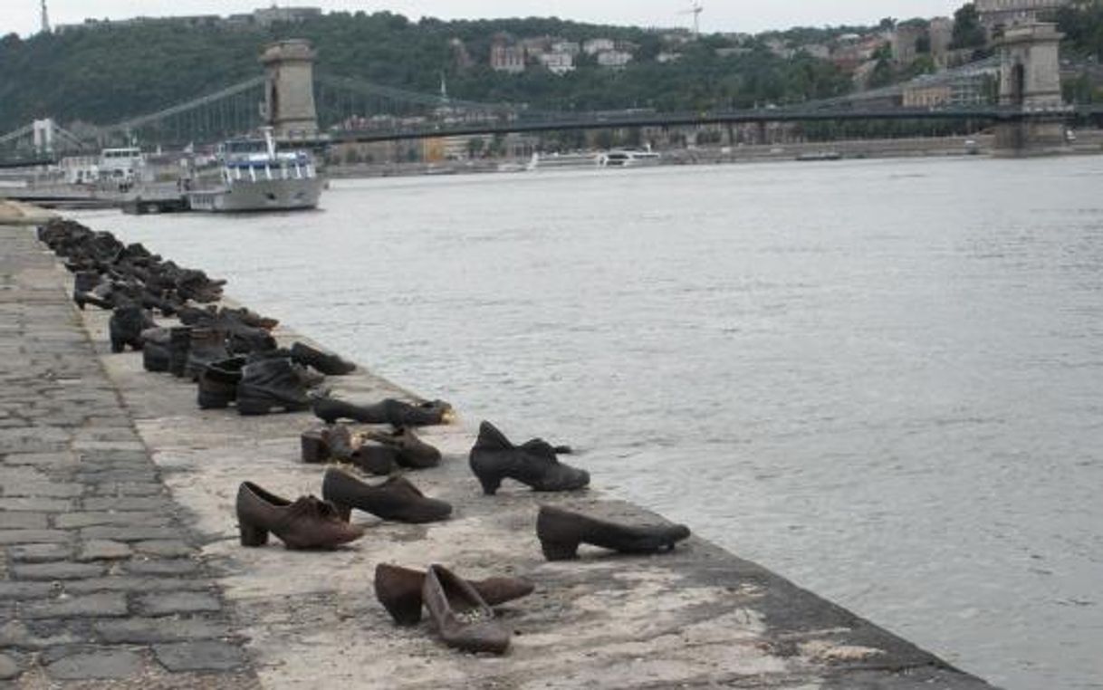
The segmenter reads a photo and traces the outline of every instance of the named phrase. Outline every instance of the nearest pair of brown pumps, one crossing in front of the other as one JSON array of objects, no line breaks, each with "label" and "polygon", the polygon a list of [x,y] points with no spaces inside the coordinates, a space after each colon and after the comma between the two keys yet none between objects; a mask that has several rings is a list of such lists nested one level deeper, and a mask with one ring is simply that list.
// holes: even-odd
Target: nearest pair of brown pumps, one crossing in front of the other
[{"label": "nearest pair of brown pumps, one crossing in front of the other", "polygon": [[375,596],[398,625],[421,621],[422,605],[446,645],[472,653],[504,654],[511,630],[492,606],[527,596],[533,584],[518,578],[464,580],[443,565],[427,571],[381,563]]}]

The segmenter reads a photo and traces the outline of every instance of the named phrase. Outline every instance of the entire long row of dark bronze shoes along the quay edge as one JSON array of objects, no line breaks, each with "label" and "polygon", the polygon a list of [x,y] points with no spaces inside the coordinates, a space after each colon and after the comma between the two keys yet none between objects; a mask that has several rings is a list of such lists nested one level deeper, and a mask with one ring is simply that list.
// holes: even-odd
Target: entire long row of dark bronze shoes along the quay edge
[{"label": "entire long row of dark bronze shoes along the quay edge", "polygon": [[[225,281],[71,220],[52,220],[39,229],[39,238],[75,273],[77,306],[113,312],[113,352],[140,351],[147,370],[194,381],[202,409],[235,408],[243,416],[312,410],[323,424],[302,433],[303,462],[350,465],[384,477],[372,484],[330,466],[321,498],[295,500],[244,482],[236,500],[243,546],[264,546],[275,535],[289,549],[334,549],[365,533],[352,524],[353,509],[409,524],[451,517],[451,505],[426,496],[404,474],[440,464],[440,451],[415,430],[448,423],[452,409],[447,402],[386,399],[358,405],[334,398],[321,390],[325,377],[351,374],[355,365],[304,343],[281,348],[271,335],[276,320],[248,309],[215,306]],[[158,325],[154,312],[175,316],[181,325]],[[373,428],[360,431],[347,422]],[[514,444],[484,421],[469,465],[486,495],[496,494],[505,481],[536,492],[571,492],[587,487],[590,476],[560,462],[559,455],[570,453],[569,446],[542,439]],[[622,525],[552,506],[540,506],[536,519],[536,537],[549,561],[577,558],[583,543],[622,553],[657,553],[688,536],[682,525]],[[511,632],[493,607],[533,590],[533,583],[516,578],[465,580],[440,564],[426,570],[379,564],[375,572],[376,597],[395,623],[417,624],[424,607],[446,644],[475,653],[507,649]]]}]

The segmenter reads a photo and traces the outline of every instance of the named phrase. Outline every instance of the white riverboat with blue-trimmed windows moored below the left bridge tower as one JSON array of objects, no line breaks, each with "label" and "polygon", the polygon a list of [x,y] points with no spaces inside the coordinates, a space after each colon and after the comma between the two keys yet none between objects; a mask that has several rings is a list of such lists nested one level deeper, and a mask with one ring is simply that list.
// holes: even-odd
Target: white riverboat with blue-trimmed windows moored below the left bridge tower
[{"label": "white riverboat with blue-trimmed windows moored below the left bridge tower", "polygon": [[317,208],[324,180],[309,151],[277,151],[271,130],[264,139],[223,143],[215,165],[197,171],[188,191],[192,211],[242,213]]}]

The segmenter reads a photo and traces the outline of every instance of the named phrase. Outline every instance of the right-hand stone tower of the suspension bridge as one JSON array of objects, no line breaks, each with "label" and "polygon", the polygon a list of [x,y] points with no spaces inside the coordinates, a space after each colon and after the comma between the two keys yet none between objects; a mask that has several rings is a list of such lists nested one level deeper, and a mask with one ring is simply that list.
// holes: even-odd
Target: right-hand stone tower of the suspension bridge
[{"label": "right-hand stone tower of the suspension bridge", "polygon": [[1019,108],[1029,118],[996,126],[996,153],[1038,155],[1065,145],[1061,112],[1060,45],[1063,35],[1049,23],[1015,24],[999,48],[999,105]]}]

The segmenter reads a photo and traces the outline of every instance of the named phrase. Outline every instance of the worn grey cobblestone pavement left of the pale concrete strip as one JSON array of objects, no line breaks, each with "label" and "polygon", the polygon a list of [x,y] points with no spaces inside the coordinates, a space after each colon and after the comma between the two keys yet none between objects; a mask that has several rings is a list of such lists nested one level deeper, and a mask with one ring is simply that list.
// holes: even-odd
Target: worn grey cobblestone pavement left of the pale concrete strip
[{"label": "worn grey cobblestone pavement left of the pale concrete strip", "polygon": [[257,687],[67,288],[0,227],[0,688]]}]

